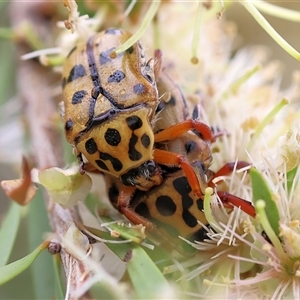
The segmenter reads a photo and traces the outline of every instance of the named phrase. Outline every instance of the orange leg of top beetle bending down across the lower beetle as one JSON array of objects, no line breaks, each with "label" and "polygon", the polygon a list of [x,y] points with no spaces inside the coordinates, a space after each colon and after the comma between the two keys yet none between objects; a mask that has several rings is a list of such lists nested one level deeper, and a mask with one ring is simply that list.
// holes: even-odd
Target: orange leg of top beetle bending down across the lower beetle
[{"label": "orange leg of top beetle bending down across the lower beetle", "polygon": [[195,195],[202,198],[203,193],[199,185],[198,177],[188,160],[181,154],[169,152],[161,149],[154,149],[154,161],[162,165],[180,166],[184,171],[188,182]]}]

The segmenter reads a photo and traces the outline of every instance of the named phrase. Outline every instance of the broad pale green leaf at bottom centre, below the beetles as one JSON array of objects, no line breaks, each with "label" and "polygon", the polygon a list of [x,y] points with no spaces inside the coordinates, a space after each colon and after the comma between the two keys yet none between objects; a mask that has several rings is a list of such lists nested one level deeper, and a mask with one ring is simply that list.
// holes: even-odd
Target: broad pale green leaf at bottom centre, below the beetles
[{"label": "broad pale green leaf at bottom centre, below the beetles", "polygon": [[127,271],[140,299],[159,298],[162,290],[171,290],[168,281],[145,250],[133,245],[124,257]]}]

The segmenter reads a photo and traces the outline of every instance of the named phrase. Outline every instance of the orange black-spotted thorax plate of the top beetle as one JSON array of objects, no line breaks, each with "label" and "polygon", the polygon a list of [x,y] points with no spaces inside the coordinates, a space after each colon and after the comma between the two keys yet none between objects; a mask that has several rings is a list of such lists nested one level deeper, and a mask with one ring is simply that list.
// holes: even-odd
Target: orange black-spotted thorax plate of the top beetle
[{"label": "orange black-spotted thorax plate of the top beetle", "polygon": [[91,128],[75,145],[97,169],[116,177],[153,159],[154,135],[149,109],[120,112]]}]

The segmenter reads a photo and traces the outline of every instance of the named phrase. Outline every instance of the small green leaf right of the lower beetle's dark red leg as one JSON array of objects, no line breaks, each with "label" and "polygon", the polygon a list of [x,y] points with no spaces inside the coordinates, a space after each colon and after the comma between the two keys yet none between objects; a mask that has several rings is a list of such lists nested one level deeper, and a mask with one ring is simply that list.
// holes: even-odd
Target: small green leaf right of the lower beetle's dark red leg
[{"label": "small green leaf right of the lower beetle's dark red leg", "polygon": [[265,212],[268,221],[274,230],[275,234],[279,235],[279,212],[275,201],[272,198],[272,193],[259,171],[255,168],[250,170],[250,177],[252,182],[252,193],[254,205],[258,200],[264,200],[266,203]]}]

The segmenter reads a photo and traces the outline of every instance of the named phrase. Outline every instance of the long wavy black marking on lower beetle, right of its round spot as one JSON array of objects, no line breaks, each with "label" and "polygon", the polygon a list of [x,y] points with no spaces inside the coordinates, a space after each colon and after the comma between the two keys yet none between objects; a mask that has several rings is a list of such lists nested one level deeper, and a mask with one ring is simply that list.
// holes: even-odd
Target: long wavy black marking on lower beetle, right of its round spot
[{"label": "long wavy black marking on lower beetle, right of its round spot", "polygon": [[181,195],[182,218],[185,224],[191,228],[195,227],[198,224],[197,219],[188,210],[193,205],[193,199],[189,195],[192,189],[187,181],[187,178],[176,178],[173,181],[173,187]]}]

